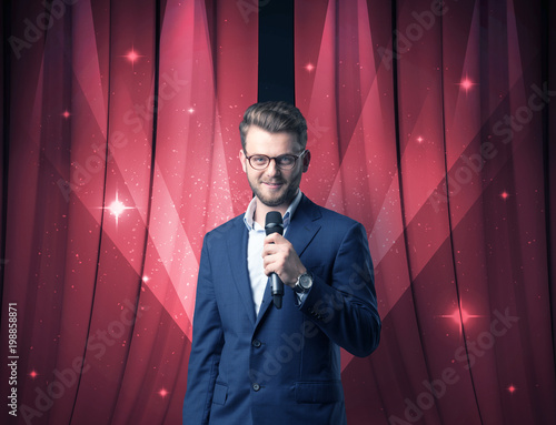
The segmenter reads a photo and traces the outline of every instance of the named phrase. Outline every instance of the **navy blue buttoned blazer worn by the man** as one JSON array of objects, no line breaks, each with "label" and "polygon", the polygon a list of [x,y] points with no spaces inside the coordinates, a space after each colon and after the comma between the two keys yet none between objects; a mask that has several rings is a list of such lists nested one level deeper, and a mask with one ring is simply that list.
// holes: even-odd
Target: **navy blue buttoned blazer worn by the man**
[{"label": "navy blue buttoned blazer worn by the man", "polygon": [[205,236],[183,424],[346,424],[339,347],[367,356],[380,335],[367,235],[304,195],[286,236],[314,285],[281,310],[267,285],[258,316],[244,215]]}]

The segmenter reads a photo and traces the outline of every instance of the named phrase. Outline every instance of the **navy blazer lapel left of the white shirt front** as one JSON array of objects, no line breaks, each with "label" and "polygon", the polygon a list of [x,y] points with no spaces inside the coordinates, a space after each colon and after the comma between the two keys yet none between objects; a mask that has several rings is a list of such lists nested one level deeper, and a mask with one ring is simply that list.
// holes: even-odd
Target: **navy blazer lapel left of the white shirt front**
[{"label": "navy blazer lapel left of the white shirt front", "polygon": [[[234,233],[228,237],[228,253],[230,259],[231,277],[247,311],[251,325],[255,325],[255,307],[252,304],[249,272],[247,270],[247,236],[248,232],[244,219],[239,217],[234,227]],[[238,244],[239,242],[239,244]]]}]

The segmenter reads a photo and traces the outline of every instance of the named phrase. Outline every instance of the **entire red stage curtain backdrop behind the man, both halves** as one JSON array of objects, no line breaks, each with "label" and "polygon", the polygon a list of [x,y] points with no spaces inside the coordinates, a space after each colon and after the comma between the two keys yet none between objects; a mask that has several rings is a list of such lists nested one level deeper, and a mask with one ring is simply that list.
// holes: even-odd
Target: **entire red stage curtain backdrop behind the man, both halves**
[{"label": "entire red stage curtain backdrop behind the man, both halves", "polygon": [[[180,423],[269,3],[2,3],[2,424]],[[556,8],[292,13],[301,189],[365,224],[384,320],[342,353],[348,423],[556,423]]]}]

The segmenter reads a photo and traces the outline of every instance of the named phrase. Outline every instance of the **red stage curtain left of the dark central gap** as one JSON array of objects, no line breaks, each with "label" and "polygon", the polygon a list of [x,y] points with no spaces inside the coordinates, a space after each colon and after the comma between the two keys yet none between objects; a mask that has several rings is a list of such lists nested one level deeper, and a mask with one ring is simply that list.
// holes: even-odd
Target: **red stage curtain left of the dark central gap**
[{"label": "red stage curtain left of the dark central gap", "polygon": [[257,13],[64,4],[11,4],[29,43],[7,62],[17,95],[2,115],[13,423],[180,423],[202,235],[250,198],[229,158],[257,99]]}]

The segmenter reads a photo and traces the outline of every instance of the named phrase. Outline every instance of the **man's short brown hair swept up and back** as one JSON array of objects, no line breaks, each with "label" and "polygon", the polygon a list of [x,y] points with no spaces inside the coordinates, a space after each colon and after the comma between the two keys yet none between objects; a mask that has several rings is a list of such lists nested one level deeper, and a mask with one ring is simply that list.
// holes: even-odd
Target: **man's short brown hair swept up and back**
[{"label": "man's short brown hair swept up and back", "polygon": [[282,101],[268,101],[251,104],[245,111],[244,120],[239,123],[241,146],[245,151],[245,139],[249,128],[256,125],[269,133],[292,133],[302,149],[307,145],[307,121],[301,111],[292,104]]}]

